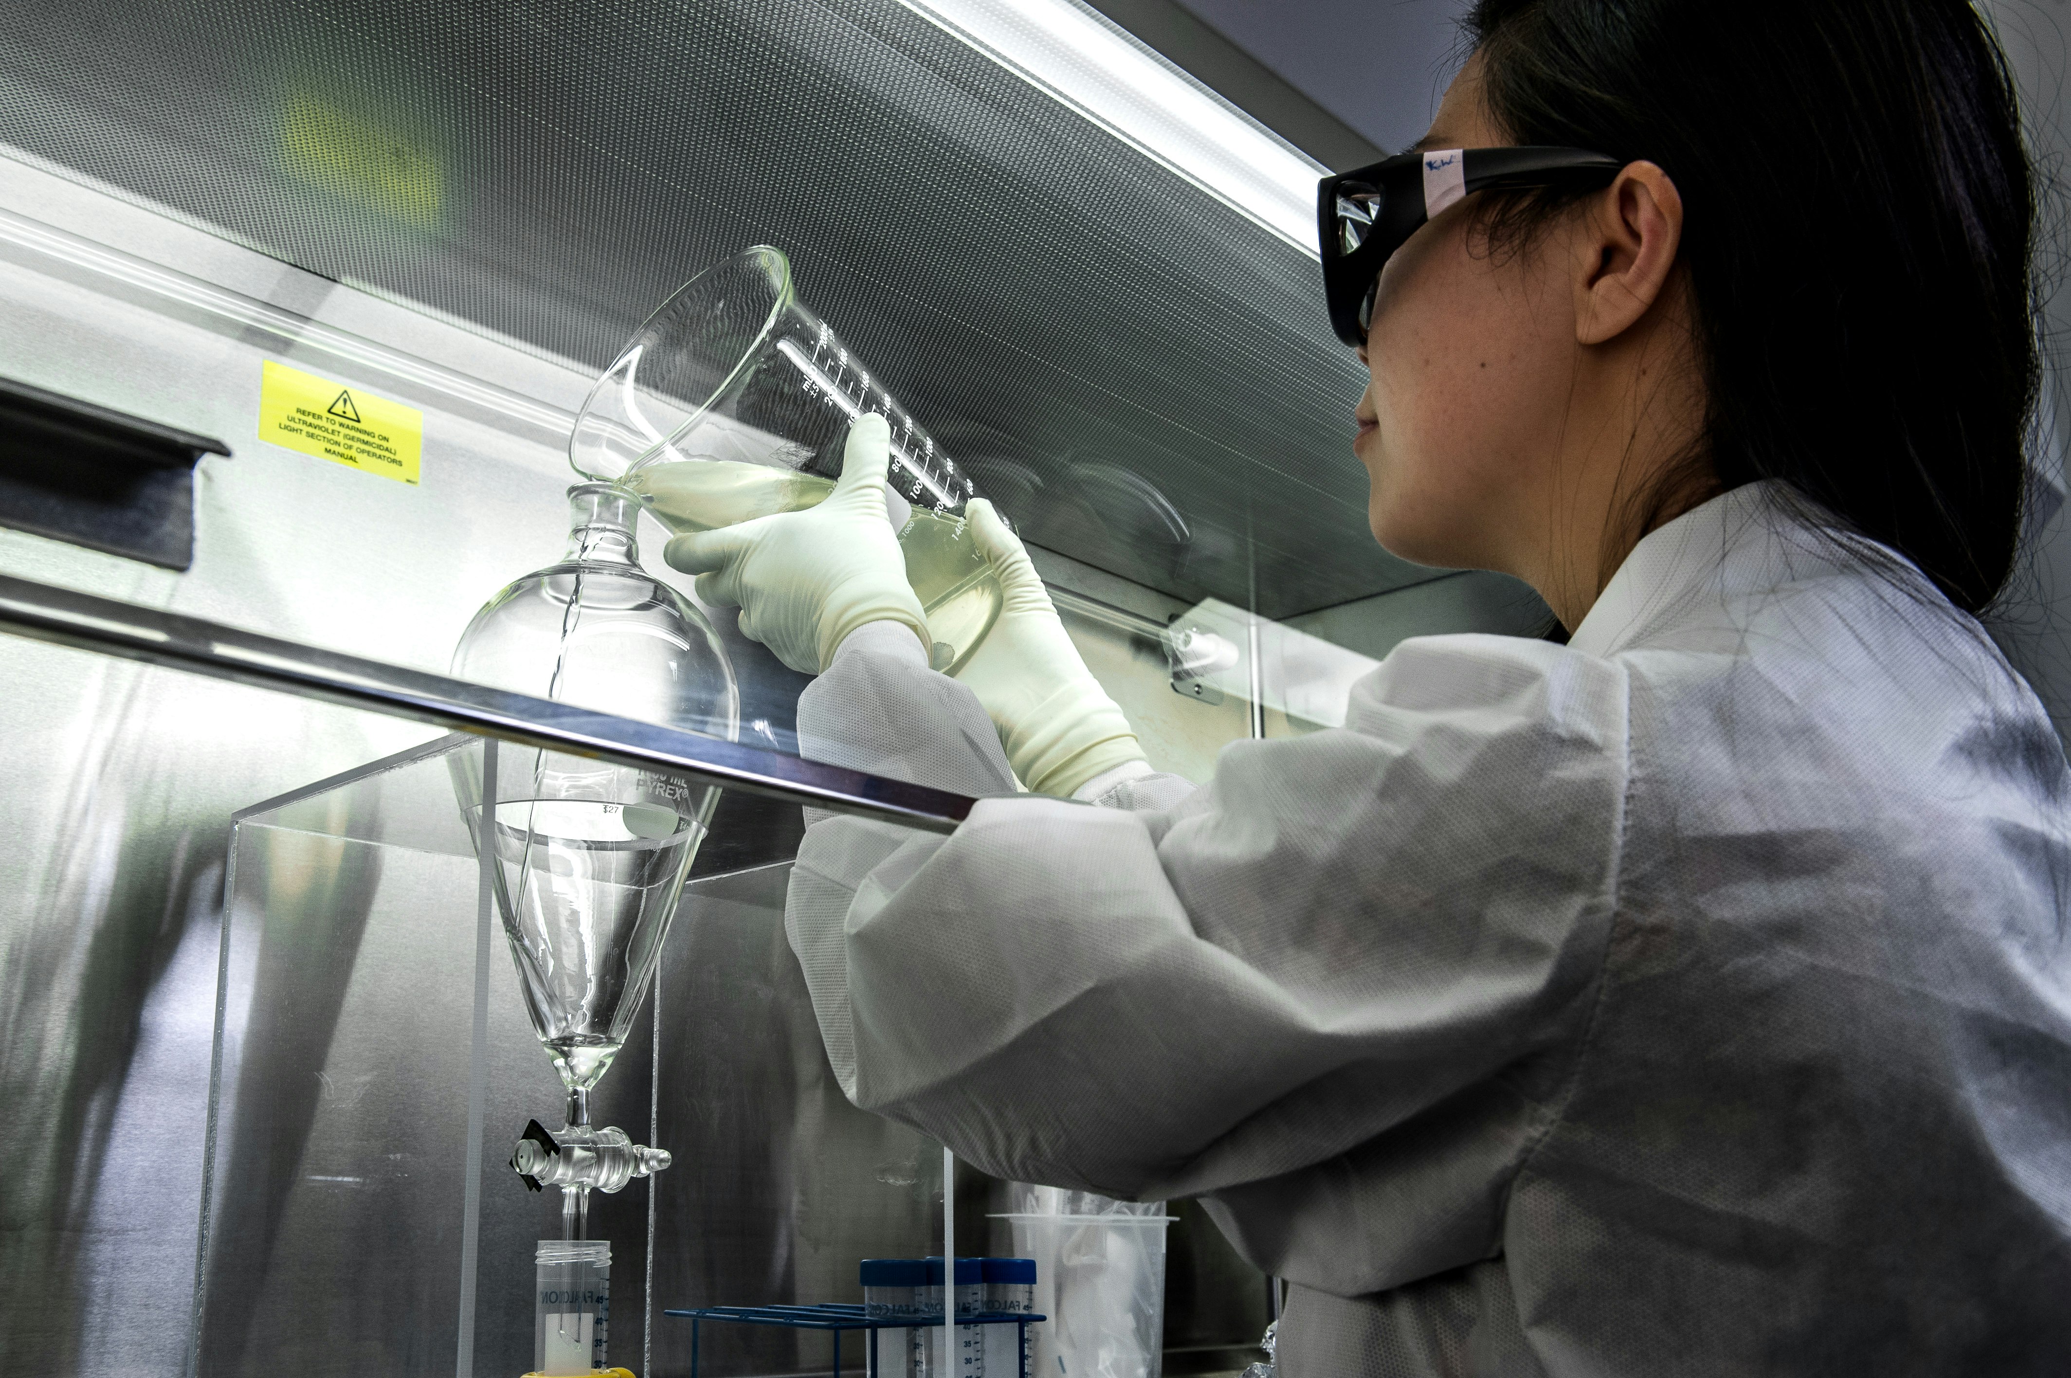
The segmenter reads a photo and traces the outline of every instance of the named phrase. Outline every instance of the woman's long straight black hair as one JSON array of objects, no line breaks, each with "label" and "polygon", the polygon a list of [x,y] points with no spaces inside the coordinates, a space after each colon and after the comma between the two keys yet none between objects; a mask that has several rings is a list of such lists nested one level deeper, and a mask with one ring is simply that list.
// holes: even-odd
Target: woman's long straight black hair
[{"label": "woman's long straight black hair", "polygon": [[1990,603],[2040,381],[2036,205],[1970,0],[1479,0],[1468,37],[1512,141],[1649,160],[1682,193],[1719,487],[1785,479]]}]

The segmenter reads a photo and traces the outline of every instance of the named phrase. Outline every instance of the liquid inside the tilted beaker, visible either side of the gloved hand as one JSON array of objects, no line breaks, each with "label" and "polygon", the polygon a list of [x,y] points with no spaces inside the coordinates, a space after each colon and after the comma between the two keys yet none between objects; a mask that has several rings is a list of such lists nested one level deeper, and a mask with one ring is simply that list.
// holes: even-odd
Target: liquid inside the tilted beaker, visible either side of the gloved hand
[{"label": "liquid inside the tilted beaker, visible either side of the gloved hand", "polygon": [[[739,460],[679,460],[634,470],[628,483],[671,535],[717,530],[775,512],[818,506],[830,479]],[[907,582],[928,613],[934,667],[955,671],[1000,615],[1000,580],[961,516],[913,508],[899,530]]]}]

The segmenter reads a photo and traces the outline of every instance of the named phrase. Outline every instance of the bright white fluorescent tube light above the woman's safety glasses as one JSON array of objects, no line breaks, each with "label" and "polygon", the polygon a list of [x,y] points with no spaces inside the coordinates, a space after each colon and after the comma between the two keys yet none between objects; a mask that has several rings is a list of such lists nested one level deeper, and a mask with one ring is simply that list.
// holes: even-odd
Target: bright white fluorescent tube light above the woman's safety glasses
[{"label": "bright white fluorescent tube light above the woman's safety glasses", "polygon": [[1330,172],[1079,0],[901,0],[1029,85],[1317,253]]}]

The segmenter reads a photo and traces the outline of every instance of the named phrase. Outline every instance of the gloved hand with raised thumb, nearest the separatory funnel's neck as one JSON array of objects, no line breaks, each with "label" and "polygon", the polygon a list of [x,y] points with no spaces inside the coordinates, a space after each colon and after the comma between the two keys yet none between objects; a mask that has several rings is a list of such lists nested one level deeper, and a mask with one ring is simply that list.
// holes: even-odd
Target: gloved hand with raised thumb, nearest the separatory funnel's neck
[{"label": "gloved hand with raised thumb, nearest the separatory funnel's neck", "polygon": [[903,622],[926,649],[928,615],[884,520],[886,468],[891,427],[884,417],[857,417],[841,481],[820,506],[675,537],[661,557],[696,574],[706,603],[739,605],[741,636],[791,669],[824,671],[841,638],[872,622]]}]

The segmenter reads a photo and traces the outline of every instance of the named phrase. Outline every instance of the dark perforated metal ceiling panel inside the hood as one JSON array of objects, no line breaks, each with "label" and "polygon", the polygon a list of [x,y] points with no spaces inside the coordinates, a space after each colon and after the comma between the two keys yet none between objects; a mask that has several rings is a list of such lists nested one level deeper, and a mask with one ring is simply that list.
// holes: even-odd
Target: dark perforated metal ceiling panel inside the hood
[{"label": "dark perforated metal ceiling panel inside the hood", "polygon": [[775,242],[1038,543],[1272,618],[1425,576],[1313,259],[893,0],[17,6],[0,139],[592,367]]}]

